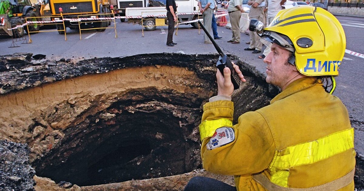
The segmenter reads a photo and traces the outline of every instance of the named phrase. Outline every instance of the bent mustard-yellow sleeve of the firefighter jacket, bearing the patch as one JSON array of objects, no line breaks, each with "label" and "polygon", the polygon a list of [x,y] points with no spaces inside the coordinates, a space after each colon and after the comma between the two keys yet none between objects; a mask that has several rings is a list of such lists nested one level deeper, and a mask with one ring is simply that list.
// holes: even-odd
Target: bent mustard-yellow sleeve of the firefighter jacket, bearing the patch
[{"label": "bent mustard-yellow sleeve of the firefighter jacket, bearing the patch", "polygon": [[[216,101],[203,107],[202,123],[210,120],[233,119],[233,102]],[[220,126],[222,127],[222,126]],[[215,126],[216,129],[220,128]],[[200,131],[201,131],[200,125]],[[201,135],[202,165],[207,171],[226,175],[247,175],[268,168],[273,159],[275,145],[265,119],[258,112],[241,115],[238,124],[231,127],[234,140],[221,147],[214,147],[216,132]],[[211,130],[210,130],[211,131]],[[211,136],[214,136],[211,138]],[[212,143],[212,144],[211,144]],[[210,145],[207,149],[207,145]]]}]

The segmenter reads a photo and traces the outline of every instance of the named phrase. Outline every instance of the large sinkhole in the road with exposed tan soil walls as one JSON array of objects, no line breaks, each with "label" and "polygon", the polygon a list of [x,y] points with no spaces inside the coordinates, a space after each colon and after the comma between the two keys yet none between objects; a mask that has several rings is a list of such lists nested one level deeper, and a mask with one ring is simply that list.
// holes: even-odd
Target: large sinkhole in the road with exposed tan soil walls
[{"label": "large sinkhole in the road with exposed tan soil walls", "polygon": [[[236,123],[268,105],[277,89],[230,58],[247,79],[232,97]],[[6,99],[27,108],[9,112],[24,126],[36,175],[90,186],[201,168],[198,125],[203,104],[217,93],[217,59],[161,53],[58,64],[58,73],[71,77],[10,93],[16,99]],[[27,75],[49,79],[50,73]]]}]

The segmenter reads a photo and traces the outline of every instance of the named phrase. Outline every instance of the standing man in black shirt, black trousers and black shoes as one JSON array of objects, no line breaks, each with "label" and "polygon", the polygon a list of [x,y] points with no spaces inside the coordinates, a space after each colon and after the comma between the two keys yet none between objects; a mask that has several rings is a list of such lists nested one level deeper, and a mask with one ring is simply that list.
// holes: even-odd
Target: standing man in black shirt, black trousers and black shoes
[{"label": "standing man in black shirt, black trousers and black shoes", "polygon": [[177,43],[173,42],[173,32],[174,32],[174,22],[177,22],[177,17],[175,12],[177,11],[176,1],[167,0],[167,19],[168,19],[168,35],[167,35],[167,46],[173,47]]}]

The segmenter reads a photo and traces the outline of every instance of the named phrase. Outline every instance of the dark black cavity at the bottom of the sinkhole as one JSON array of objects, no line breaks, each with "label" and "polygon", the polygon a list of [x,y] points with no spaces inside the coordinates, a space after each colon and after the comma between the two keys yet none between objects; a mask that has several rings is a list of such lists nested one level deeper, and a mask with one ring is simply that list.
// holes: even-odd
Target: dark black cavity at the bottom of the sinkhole
[{"label": "dark black cavity at the bottom of the sinkhole", "polygon": [[[199,142],[187,138],[198,126],[194,119],[201,115],[200,109],[193,102],[166,103],[155,96],[161,92],[145,91],[154,94],[154,100],[146,95],[132,102],[120,99],[88,116],[75,127],[77,134],[36,164],[37,175],[90,186],[183,174],[201,167],[195,154]],[[135,92],[128,95],[135,98]],[[187,100],[186,95],[173,96]],[[78,144],[70,147],[74,142]]]}]

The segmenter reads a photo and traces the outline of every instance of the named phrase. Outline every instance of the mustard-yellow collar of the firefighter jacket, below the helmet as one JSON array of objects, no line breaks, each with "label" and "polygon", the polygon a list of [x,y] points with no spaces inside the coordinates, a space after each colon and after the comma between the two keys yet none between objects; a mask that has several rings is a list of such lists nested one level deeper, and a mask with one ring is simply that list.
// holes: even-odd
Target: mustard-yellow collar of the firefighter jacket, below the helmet
[{"label": "mustard-yellow collar of the firefighter jacket, below the helmet", "polygon": [[274,97],[270,101],[270,104],[278,100],[284,99],[294,93],[300,92],[304,89],[313,87],[316,84],[317,84],[316,77],[302,77],[300,79],[297,79],[292,83],[290,83],[284,91],[276,95],[276,97]]}]

